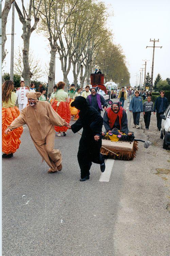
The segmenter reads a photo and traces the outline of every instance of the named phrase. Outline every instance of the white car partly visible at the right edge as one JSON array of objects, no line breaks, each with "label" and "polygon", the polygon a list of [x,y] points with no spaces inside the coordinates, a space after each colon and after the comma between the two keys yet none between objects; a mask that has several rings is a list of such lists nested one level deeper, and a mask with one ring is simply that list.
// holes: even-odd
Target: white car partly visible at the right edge
[{"label": "white car partly visible at the right edge", "polygon": [[165,110],[164,115],[160,115],[162,118],[160,139],[163,139],[163,148],[168,149],[170,146],[170,105]]}]

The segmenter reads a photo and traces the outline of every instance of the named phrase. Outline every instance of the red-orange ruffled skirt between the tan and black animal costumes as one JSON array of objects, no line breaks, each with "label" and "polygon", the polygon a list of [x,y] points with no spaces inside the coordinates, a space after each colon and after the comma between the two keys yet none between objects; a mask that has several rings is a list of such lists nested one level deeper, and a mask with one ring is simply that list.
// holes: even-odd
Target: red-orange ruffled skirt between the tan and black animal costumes
[{"label": "red-orange ruffled skirt between the tan and black animal costumes", "polygon": [[[57,106],[57,100],[54,101],[52,108],[57,112],[57,114],[63,118],[67,123],[70,123],[71,113],[69,108],[69,103],[60,101],[59,106]],[[67,131],[68,128],[66,126],[54,126],[55,131]]]}]

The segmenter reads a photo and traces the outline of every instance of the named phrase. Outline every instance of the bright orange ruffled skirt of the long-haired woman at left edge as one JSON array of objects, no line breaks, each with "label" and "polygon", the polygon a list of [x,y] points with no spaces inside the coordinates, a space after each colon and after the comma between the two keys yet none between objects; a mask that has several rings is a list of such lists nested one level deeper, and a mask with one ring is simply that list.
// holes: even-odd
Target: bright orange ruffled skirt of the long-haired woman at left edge
[{"label": "bright orange ruffled skirt of the long-haired woman at left edge", "polygon": [[19,109],[15,107],[2,108],[2,152],[5,154],[15,153],[21,143],[20,137],[23,132],[23,127],[18,127],[9,134],[4,131],[7,126],[11,125],[13,120],[19,116]]}]

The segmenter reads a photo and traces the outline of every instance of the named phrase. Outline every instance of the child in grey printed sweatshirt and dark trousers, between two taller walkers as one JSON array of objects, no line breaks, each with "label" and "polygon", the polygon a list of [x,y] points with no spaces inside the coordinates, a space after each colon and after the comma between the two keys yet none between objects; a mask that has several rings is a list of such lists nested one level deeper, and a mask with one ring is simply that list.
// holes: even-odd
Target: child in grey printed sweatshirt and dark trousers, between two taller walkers
[{"label": "child in grey printed sweatshirt and dark trousers, between two taller walkers", "polygon": [[147,101],[143,103],[143,117],[147,131],[149,130],[151,112],[153,112],[153,102],[151,101],[151,96],[148,96]]}]

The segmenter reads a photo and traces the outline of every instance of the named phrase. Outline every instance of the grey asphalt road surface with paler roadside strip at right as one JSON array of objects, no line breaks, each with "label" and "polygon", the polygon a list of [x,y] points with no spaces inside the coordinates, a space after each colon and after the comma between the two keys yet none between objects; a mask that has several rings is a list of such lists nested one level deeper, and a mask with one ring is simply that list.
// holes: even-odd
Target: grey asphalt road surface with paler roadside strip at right
[{"label": "grey asphalt road surface with paler roadside strip at right", "polygon": [[[135,134],[146,138],[142,129]],[[58,173],[47,174],[27,126],[14,157],[3,159],[3,255],[168,256],[167,187],[154,174],[154,146],[148,155],[139,143],[133,161],[115,160],[109,182],[99,182],[97,164],[80,182],[79,140],[70,130],[55,138],[63,155]]]}]

